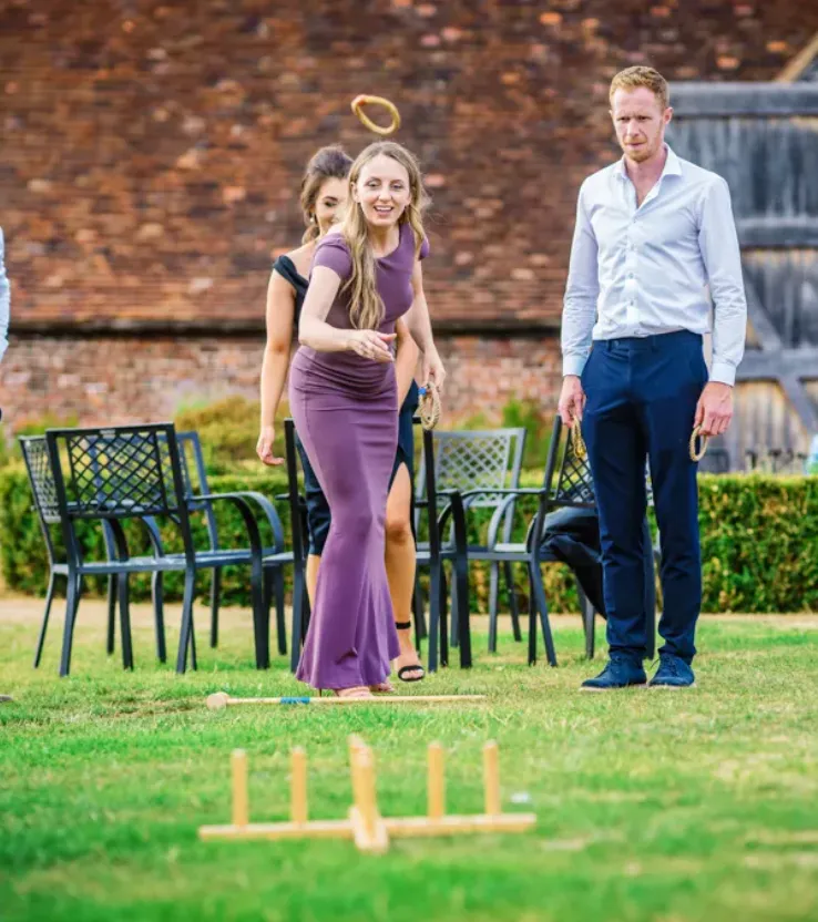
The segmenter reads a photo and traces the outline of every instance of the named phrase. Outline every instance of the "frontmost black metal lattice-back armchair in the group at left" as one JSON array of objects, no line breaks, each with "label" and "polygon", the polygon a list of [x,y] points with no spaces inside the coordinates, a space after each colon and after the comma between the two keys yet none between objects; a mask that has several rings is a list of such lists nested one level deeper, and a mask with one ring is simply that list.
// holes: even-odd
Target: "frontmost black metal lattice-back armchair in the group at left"
[{"label": "frontmost black metal lattice-back armchair in the group at left", "polygon": [[[191,534],[187,498],[176,433],[171,423],[120,426],[91,429],[53,429],[45,433],[54,500],[67,550],[68,598],[60,675],[68,675],[71,646],[82,581],[86,575],[130,573],[185,574],[182,628],[176,670],[196,667],[193,634],[193,597],[196,572],[226,564],[250,567],[253,627],[256,665],[269,665],[268,622],[265,623],[262,545],[258,525],[249,503],[241,494],[204,494],[202,501],[229,502],[241,513],[247,531],[248,549],[241,551],[196,551]],[[123,522],[146,516],[163,516],[175,523],[183,544],[182,553],[131,556]],[[76,540],[80,521],[106,522],[114,539],[116,559],[86,562]],[[133,668],[127,581],[117,580],[122,658]]]}]

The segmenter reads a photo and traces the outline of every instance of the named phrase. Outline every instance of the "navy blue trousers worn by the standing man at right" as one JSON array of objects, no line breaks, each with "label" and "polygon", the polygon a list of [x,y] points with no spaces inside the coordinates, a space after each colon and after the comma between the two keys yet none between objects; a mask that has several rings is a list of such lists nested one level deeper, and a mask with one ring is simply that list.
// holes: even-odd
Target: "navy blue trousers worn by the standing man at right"
[{"label": "navy blue trousers worn by the standing man at right", "polygon": [[594,342],[582,434],[600,513],[607,642],[645,656],[646,462],[662,547],[659,653],[689,663],[702,605],[696,468],[688,442],[707,382],[702,337],[681,330]]}]

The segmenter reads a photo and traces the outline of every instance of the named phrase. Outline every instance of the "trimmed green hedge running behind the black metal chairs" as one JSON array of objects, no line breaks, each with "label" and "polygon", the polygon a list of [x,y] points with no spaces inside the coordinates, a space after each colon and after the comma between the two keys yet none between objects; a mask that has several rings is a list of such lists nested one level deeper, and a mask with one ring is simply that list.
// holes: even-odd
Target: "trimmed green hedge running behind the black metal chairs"
[{"label": "trimmed green hedge running behind the black metal chairs", "polygon": [[[540,474],[523,478],[526,485],[536,485]],[[213,492],[258,490],[268,496],[286,490],[284,475],[275,471],[253,474],[241,472],[211,478]],[[704,568],[704,605],[706,612],[810,612],[818,611],[818,478],[815,477],[706,477],[699,480],[699,522]],[[285,525],[286,504],[279,503]],[[517,536],[524,534],[531,499],[521,502]],[[219,541],[223,546],[241,546],[243,523],[227,504],[217,508]],[[203,516],[194,518],[198,546],[207,546]],[[477,523],[472,540],[477,540]],[[181,550],[174,526],[163,526],[167,546]],[[24,471],[10,467],[0,472],[0,565],[6,585],[14,591],[43,594],[48,564],[45,546],[33,512],[32,498]],[[103,554],[99,526],[82,530],[82,543],[89,560]],[[132,553],[144,545],[139,526],[131,526]],[[517,567],[520,602],[525,604],[526,580]],[[544,571],[549,600],[553,611],[576,611],[573,580],[564,566],[552,565]],[[198,588],[204,594],[209,577],[201,574]],[[488,568],[473,566],[472,607],[485,611]],[[225,604],[248,604],[247,572],[227,567],[223,580]],[[150,597],[150,577],[133,577],[133,597]],[[170,598],[178,598],[181,577],[167,574],[165,586]],[[89,592],[102,593],[100,581]],[[505,600],[501,607],[505,608]]]}]

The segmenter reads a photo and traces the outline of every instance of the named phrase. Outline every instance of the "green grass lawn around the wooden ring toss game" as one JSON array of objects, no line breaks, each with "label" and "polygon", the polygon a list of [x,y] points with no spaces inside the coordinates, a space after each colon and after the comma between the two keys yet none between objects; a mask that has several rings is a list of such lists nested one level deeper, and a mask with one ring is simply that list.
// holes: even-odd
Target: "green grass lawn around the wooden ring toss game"
[{"label": "green grass lawn around the wooden ring toss game", "polygon": [[[103,652],[101,606],[80,612],[73,673],[62,628],[31,668],[40,603],[0,603],[0,919],[701,920],[818,919],[818,617],[703,618],[698,688],[577,694],[596,670],[579,619],[556,619],[560,667],[501,653],[411,690],[485,704],[208,711],[205,695],[293,694],[282,659],[250,666],[248,613],[178,677],[153,659],[145,608],[136,670]],[[168,613],[174,621],[177,612]],[[168,636],[173,650],[175,637]],[[385,815],[425,809],[426,744],[447,749],[451,812],[482,806],[481,747],[500,744],[503,806],[521,836],[209,843],[229,818],[229,752],[247,750],[250,816],[285,819],[292,746],[309,757],[313,817],[350,800],[346,740],[374,747]]]}]

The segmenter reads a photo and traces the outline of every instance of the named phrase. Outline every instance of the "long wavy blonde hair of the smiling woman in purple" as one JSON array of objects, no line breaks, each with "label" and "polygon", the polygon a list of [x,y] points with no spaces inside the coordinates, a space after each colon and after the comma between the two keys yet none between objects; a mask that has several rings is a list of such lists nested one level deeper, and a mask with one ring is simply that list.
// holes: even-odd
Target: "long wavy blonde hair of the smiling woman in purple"
[{"label": "long wavy blonde hair of the smiling woman in purple", "polygon": [[393,141],[376,141],[358,154],[349,171],[349,204],[341,224],[341,234],[352,257],[352,274],[344,290],[349,291],[349,317],[352,326],[359,330],[377,329],[384,320],[385,306],[378,294],[375,255],[369,243],[367,221],[360,203],[354,201],[351,193],[361,170],[369,161],[381,155],[397,161],[409,174],[411,198],[398,218],[398,226],[400,228],[400,225],[408,223],[412,228],[416,259],[425,237],[422,214],[429,204],[418,161],[406,147]]}]

